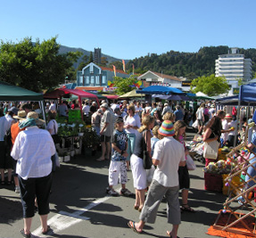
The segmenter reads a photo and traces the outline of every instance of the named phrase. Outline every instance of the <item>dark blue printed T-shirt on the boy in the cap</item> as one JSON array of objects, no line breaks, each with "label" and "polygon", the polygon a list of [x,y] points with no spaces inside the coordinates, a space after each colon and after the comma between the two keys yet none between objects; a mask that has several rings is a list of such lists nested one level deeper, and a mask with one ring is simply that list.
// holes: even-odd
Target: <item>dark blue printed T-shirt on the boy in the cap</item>
[{"label": "dark blue printed T-shirt on the boy in the cap", "polygon": [[[128,135],[127,135],[127,133],[124,129],[122,131],[114,130],[112,138],[111,138],[111,143],[112,144],[116,144],[116,146],[121,151],[125,151],[127,141],[128,141]],[[126,160],[126,158],[123,157],[119,152],[112,149],[111,160],[121,161],[121,160]]]}]

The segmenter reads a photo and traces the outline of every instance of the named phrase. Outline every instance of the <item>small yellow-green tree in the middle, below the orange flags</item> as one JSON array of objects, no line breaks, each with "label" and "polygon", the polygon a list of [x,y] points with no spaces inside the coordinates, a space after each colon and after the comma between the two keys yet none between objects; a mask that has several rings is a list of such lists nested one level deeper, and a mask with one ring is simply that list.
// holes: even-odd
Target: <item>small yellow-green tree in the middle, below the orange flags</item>
[{"label": "small yellow-green tree in the middle, below the orange flags", "polygon": [[134,75],[130,76],[129,78],[120,78],[120,77],[114,77],[113,84],[116,86],[115,93],[116,94],[126,94],[135,87],[133,86],[136,83],[137,79]]}]

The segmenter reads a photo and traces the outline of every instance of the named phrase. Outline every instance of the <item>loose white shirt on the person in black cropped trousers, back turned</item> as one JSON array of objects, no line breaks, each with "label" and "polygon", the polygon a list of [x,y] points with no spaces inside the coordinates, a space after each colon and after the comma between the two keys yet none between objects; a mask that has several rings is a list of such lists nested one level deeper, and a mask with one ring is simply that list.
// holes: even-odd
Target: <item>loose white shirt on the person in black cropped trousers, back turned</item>
[{"label": "loose white shirt on the person in black cropped trousers, back turned", "polygon": [[52,136],[37,126],[27,127],[16,137],[11,156],[17,161],[16,173],[23,179],[48,176],[52,172],[51,157],[56,152]]}]

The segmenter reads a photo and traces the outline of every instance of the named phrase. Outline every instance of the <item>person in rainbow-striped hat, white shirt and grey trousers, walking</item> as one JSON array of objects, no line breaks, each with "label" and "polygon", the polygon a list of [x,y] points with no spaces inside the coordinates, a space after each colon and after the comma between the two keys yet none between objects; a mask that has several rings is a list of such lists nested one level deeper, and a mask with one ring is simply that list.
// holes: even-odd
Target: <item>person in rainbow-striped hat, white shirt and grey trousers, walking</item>
[{"label": "person in rainbow-striped hat, white shirt and grey trousers, walking", "polygon": [[153,182],[150,185],[144,208],[139,217],[139,222],[129,221],[128,226],[134,232],[141,234],[145,223],[154,223],[157,210],[163,196],[167,199],[168,223],[173,225],[167,234],[177,238],[180,224],[180,209],[178,201],[178,166],[185,166],[184,146],[173,138],[174,128],[170,120],[164,120],[158,133],[163,139],[155,144],[153,152],[153,165],[157,166]]}]

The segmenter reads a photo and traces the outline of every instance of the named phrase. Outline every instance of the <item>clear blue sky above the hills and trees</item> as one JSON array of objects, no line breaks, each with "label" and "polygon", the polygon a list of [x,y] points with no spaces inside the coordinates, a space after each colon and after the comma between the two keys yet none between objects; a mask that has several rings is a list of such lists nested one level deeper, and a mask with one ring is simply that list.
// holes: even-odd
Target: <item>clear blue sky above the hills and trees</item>
[{"label": "clear blue sky above the hills and trees", "polygon": [[255,0],[2,0],[0,39],[40,41],[120,59],[197,52],[203,46],[256,48]]}]

